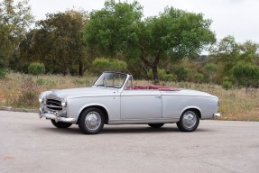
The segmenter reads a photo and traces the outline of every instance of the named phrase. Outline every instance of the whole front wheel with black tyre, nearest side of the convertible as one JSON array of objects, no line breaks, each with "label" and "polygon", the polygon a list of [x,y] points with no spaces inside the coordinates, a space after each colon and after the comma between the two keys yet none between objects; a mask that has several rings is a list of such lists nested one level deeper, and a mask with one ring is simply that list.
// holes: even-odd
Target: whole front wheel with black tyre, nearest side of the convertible
[{"label": "whole front wheel with black tyre, nearest side of the convertible", "polygon": [[79,129],[86,134],[97,134],[104,127],[104,115],[96,107],[86,109],[79,118]]}]

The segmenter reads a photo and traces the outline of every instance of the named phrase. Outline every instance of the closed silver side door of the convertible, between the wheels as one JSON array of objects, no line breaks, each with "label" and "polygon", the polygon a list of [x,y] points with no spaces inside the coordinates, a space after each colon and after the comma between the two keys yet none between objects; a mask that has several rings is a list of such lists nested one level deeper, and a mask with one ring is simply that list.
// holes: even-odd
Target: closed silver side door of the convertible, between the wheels
[{"label": "closed silver side door of the convertible, between the wheels", "polygon": [[159,90],[124,90],[121,93],[121,119],[162,118]]}]

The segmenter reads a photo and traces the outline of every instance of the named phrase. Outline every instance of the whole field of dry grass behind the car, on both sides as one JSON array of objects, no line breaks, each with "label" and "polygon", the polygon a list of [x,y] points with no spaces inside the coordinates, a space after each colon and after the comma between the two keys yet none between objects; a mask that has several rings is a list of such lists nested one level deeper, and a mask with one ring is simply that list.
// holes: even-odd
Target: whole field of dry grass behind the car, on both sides
[{"label": "whole field of dry grass behind the car, on both sides", "polygon": [[[0,79],[0,106],[37,108],[38,95],[45,90],[71,87],[89,87],[96,77],[30,76],[10,73]],[[135,84],[152,84],[137,80]],[[245,93],[245,88],[225,90],[220,86],[192,83],[162,83],[163,86],[184,87],[208,92],[220,99],[221,120],[259,121],[259,90]]]}]

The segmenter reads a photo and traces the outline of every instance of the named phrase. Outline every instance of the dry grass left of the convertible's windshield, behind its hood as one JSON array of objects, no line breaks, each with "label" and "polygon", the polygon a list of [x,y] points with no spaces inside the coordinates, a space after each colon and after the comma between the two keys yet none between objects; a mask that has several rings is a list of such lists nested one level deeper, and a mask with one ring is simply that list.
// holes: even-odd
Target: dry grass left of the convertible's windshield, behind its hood
[{"label": "dry grass left of the convertible's windshield, behind its hood", "polygon": [[96,77],[71,77],[58,75],[31,76],[10,73],[0,79],[0,106],[37,108],[42,91],[72,87],[88,87]]}]

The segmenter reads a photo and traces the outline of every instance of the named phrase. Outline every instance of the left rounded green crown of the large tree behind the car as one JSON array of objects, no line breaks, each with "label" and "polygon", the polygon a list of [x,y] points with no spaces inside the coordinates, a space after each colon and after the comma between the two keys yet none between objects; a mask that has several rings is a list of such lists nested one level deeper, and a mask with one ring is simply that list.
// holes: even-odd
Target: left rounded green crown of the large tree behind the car
[{"label": "left rounded green crown of the large tree behind the car", "polygon": [[106,1],[103,9],[90,13],[85,25],[84,39],[88,49],[111,57],[121,50],[132,49],[128,44],[138,42],[138,23],[142,16],[143,7],[136,1],[133,4]]}]

